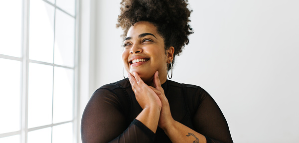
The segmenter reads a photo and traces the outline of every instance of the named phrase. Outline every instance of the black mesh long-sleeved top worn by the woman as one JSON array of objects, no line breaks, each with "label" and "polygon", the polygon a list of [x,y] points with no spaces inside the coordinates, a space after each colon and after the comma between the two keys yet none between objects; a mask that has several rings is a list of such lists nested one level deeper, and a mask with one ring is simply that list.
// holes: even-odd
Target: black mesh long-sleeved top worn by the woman
[{"label": "black mesh long-sleeved top worn by the woman", "polygon": [[[207,143],[233,143],[220,108],[205,90],[170,80],[161,86],[175,121],[204,135]],[[100,87],[82,116],[82,142],[171,143],[162,129],[158,127],[154,134],[135,119],[141,111],[131,84],[126,80]]]}]

